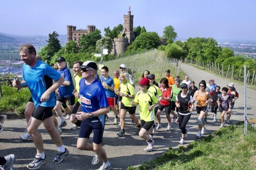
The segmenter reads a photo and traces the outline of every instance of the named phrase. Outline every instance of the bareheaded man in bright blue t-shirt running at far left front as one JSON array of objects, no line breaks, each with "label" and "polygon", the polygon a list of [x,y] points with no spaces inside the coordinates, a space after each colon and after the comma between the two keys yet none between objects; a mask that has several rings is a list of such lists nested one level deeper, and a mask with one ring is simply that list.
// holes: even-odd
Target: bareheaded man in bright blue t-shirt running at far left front
[{"label": "bareheaded man in bright blue t-shirt running at far left front", "polygon": [[[43,139],[38,131],[38,127],[42,122],[58,148],[58,153],[53,162],[60,163],[63,157],[69,154],[69,150],[63,145],[52,119],[52,109],[56,103],[54,91],[61,86],[64,79],[51,66],[35,58],[36,51],[31,44],[20,46],[19,51],[20,60],[24,61],[22,81],[20,82],[18,79],[13,80],[13,86],[16,88],[28,87],[32,94],[35,111],[28,121],[27,130],[32,136],[37,154],[35,159],[27,165],[27,168],[37,169],[47,162]],[[46,75],[48,76],[47,79],[45,78]],[[52,84],[52,80],[55,81],[54,84]]]}]

